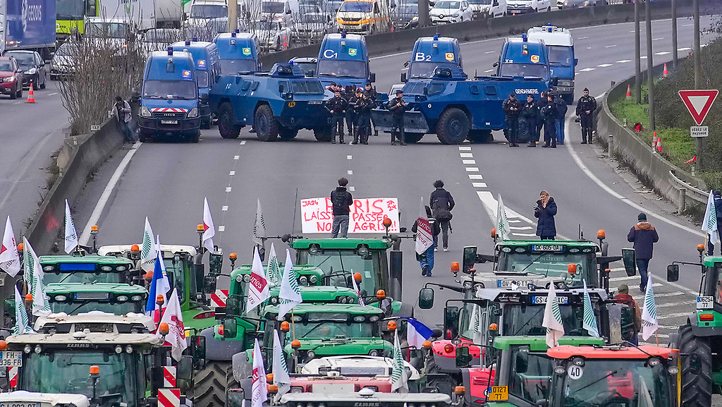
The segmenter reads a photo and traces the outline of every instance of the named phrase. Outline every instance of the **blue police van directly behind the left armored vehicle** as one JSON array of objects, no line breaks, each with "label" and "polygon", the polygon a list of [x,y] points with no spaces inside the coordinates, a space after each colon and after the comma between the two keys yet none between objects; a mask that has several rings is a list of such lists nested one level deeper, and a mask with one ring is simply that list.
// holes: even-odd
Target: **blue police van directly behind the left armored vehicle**
[{"label": "blue police van directly behind the left armored vehicle", "polygon": [[222,74],[238,74],[238,72],[258,72],[258,38],[256,34],[220,33],[213,38],[218,48],[218,57]]}]

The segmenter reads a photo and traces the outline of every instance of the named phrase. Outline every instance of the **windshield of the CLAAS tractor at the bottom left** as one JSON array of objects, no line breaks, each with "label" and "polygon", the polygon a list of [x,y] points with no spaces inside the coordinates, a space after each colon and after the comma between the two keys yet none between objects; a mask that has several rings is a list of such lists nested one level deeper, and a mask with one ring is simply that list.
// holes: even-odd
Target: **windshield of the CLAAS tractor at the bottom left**
[{"label": "windshield of the CLAAS tractor at the bottom left", "polygon": [[19,388],[37,393],[78,393],[90,398],[93,395],[90,367],[97,366],[100,377],[96,397],[136,407],[139,383],[143,383],[145,391],[144,369],[137,369],[138,358],[137,353],[124,351],[119,354],[113,351],[31,352],[23,356]]}]

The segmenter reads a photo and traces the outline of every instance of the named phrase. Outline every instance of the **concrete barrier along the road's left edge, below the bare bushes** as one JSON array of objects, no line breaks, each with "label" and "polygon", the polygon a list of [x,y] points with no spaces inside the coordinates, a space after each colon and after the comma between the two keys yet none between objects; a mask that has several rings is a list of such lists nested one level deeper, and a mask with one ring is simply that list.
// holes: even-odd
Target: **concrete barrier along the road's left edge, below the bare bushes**
[{"label": "concrete barrier along the road's left edge, below the bare bushes", "polygon": [[[63,239],[65,231],[65,200],[73,202],[85,185],[88,174],[123,145],[123,134],[116,119],[103,123],[95,133],[90,134],[77,148],[71,150],[64,171],[53,185],[40,206],[30,228],[27,240],[39,255],[51,252],[56,240]],[[76,226],[79,231],[78,226]],[[62,247],[62,244],[61,244]]]}]

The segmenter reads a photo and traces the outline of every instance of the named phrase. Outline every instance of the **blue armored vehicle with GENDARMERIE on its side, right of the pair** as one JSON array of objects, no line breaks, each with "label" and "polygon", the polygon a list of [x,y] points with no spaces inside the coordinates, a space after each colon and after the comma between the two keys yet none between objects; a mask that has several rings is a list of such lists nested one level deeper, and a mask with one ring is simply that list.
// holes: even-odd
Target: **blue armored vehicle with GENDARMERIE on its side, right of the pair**
[{"label": "blue armored vehicle with GENDARMERIE on its side, right of the pair", "polygon": [[[476,77],[467,80],[461,67],[437,67],[428,79],[410,79],[403,87],[406,142],[435,133],[442,144],[485,142],[492,130],[505,129],[502,103],[510,93],[537,95],[547,89],[541,78]],[[526,98],[526,96],[520,96]],[[391,132],[391,111],[374,109],[376,129]]]}]

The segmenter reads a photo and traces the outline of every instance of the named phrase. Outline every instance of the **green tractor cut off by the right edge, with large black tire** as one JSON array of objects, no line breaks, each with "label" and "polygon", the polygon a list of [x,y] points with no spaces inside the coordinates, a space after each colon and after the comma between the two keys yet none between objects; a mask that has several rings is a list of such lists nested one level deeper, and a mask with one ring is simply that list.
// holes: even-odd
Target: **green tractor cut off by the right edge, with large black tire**
[{"label": "green tractor cut off by the right edge, with large black tire", "polygon": [[712,395],[722,394],[722,257],[705,256],[697,247],[700,262],[674,262],[667,266],[667,281],[679,280],[679,265],[701,267],[697,309],[676,334],[669,335],[669,346],[682,358],[682,407],[710,407]]}]

